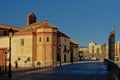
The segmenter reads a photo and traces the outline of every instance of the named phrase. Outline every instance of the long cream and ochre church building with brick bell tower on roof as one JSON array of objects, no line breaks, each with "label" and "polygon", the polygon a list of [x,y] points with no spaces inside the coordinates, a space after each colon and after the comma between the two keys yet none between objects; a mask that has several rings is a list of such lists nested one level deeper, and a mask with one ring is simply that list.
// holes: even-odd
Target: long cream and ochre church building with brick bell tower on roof
[{"label": "long cream and ochre church building with brick bell tower on roof", "polygon": [[[7,50],[7,59],[9,59],[7,31],[10,28],[15,31],[11,39],[12,67],[55,66],[59,61],[59,51],[62,62],[70,62],[70,46],[75,44],[78,47],[76,43],[71,44],[70,37],[59,31],[48,20],[37,22],[35,14],[30,13],[25,27],[0,25],[0,48],[2,51],[4,48]],[[77,47],[74,53],[77,53]],[[77,55],[74,57],[78,58]]]}]

